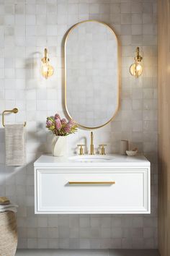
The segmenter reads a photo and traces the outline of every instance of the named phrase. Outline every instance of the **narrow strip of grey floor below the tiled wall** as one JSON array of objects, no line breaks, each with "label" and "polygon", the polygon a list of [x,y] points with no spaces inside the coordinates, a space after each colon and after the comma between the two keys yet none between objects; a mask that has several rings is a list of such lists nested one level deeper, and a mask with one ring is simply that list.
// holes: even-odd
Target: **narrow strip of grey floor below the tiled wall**
[{"label": "narrow strip of grey floor below the tiled wall", "polygon": [[156,249],[18,249],[16,256],[160,256]]}]

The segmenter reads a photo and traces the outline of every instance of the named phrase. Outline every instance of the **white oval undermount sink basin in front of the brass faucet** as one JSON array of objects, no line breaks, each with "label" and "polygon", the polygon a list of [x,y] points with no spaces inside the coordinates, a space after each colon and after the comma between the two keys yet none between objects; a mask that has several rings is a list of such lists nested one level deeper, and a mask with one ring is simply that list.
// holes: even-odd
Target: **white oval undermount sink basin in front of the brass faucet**
[{"label": "white oval undermount sink basin in front of the brass faucet", "polygon": [[71,156],[69,160],[72,161],[83,161],[83,162],[100,162],[100,161],[110,161],[113,156],[109,155],[75,155]]}]

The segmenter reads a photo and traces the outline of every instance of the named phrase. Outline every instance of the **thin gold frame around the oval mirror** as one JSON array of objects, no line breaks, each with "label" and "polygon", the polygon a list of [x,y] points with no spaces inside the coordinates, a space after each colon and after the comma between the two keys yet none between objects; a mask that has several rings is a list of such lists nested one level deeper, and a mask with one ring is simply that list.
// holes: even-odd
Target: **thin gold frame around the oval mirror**
[{"label": "thin gold frame around the oval mirror", "polygon": [[[66,80],[66,44],[67,44],[67,40],[68,40],[68,36],[70,35],[70,33],[72,32],[72,30],[74,30],[75,27],[78,27],[80,24],[85,23],[85,22],[97,22],[100,23],[104,26],[106,26],[112,33],[113,35],[115,35],[116,38],[116,42],[117,42],[117,107],[115,109],[115,113],[113,114],[112,118],[109,119],[106,123],[100,125],[99,127],[86,127],[84,125],[79,124],[76,120],[74,120],[71,116],[71,114],[69,114],[68,111],[68,107],[67,107],[67,80]],[[76,124],[84,129],[99,129],[101,127],[104,127],[105,125],[109,124],[110,121],[112,121],[113,119],[115,119],[115,116],[117,114],[117,111],[119,110],[120,107],[120,47],[119,47],[119,42],[117,39],[117,35],[115,34],[114,30],[112,30],[112,27],[110,27],[109,25],[107,25],[104,22],[100,22],[98,20],[84,20],[82,22],[78,22],[75,25],[73,25],[68,32],[66,33],[66,38],[64,40],[64,105],[66,108],[66,113],[68,114],[68,117],[70,119],[73,119],[74,121],[76,121]]]}]

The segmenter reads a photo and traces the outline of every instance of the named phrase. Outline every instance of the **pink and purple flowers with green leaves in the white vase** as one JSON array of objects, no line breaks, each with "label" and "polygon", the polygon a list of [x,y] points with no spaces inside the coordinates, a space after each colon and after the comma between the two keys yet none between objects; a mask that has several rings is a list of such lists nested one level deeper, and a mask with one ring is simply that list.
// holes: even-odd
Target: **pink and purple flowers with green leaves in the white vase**
[{"label": "pink and purple flowers with green leaves in the white vase", "polygon": [[56,136],[67,136],[77,131],[77,125],[73,119],[67,121],[65,118],[61,119],[58,114],[47,118],[46,127]]}]

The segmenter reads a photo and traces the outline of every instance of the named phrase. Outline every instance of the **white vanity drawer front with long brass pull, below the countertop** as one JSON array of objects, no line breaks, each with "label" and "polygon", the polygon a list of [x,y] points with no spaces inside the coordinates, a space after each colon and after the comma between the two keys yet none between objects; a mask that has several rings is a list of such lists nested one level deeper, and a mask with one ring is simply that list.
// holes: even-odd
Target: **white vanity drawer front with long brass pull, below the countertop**
[{"label": "white vanity drawer front with long brass pull, below the countertop", "polygon": [[35,168],[35,213],[150,213],[150,170]]}]

